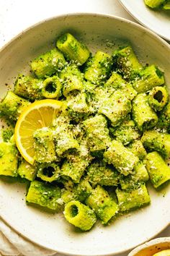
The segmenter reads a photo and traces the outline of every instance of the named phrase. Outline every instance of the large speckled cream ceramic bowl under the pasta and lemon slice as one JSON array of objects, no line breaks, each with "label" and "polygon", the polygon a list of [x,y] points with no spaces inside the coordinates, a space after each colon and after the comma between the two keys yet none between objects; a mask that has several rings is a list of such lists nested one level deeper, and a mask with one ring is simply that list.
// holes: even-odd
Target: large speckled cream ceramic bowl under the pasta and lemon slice
[{"label": "large speckled cream ceramic bowl under the pasta and lemon slice", "polygon": [[[53,17],[24,31],[0,52],[1,95],[18,73],[27,73],[30,60],[54,47],[55,38],[69,31],[91,51],[112,52],[130,43],[143,64],[158,64],[170,85],[170,46],[146,28],[102,14]],[[50,215],[25,204],[24,184],[0,181],[0,216],[27,239],[68,255],[117,255],[151,239],[169,223],[170,189],[148,187],[151,205],[117,218],[109,226],[99,222],[85,233],[75,231],[62,214]],[[145,223],[143,225],[143,222]]]}]

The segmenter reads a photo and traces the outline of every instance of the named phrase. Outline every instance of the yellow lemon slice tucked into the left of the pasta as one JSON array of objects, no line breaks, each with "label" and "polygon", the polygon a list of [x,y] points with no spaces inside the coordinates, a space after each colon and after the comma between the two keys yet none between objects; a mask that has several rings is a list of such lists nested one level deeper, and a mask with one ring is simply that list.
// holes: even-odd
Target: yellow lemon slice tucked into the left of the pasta
[{"label": "yellow lemon slice tucked into the left of the pasta", "polygon": [[34,163],[33,133],[42,127],[50,127],[53,119],[61,111],[63,103],[55,100],[42,100],[30,104],[19,116],[14,130],[17,148],[22,157]]}]

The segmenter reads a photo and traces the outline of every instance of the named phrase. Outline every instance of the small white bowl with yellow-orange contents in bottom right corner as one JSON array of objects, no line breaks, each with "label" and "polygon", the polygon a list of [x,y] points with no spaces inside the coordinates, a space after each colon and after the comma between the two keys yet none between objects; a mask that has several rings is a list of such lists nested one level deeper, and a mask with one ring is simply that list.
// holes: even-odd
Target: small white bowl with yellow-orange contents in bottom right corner
[{"label": "small white bowl with yellow-orange contents in bottom right corner", "polygon": [[153,256],[156,252],[170,249],[170,237],[153,239],[133,249],[128,256]]}]

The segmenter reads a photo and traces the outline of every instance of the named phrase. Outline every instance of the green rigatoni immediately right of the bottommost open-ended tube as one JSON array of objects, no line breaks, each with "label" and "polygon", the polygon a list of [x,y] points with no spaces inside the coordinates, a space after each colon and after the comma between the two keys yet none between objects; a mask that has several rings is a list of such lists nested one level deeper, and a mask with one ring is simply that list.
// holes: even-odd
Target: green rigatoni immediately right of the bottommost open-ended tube
[{"label": "green rigatoni immediately right of the bottommost open-ended tube", "polygon": [[86,199],[86,204],[94,210],[103,224],[107,224],[118,211],[117,203],[99,185],[91,191],[91,195]]}]

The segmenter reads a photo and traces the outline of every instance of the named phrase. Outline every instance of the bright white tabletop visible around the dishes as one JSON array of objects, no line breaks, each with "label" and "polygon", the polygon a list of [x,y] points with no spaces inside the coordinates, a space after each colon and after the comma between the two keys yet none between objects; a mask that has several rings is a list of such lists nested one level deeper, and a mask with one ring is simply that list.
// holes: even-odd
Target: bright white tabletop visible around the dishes
[{"label": "bright white tabletop visible around the dishes", "polygon": [[[0,0],[0,47],[36,22],[73,12],[113,14],[135,21],[118,0]],[[161,236],[170,236],[170,227],[156,237]],[[128,252],[117,256],[127,255]]]}]

